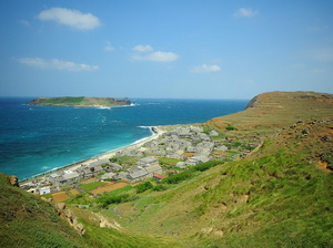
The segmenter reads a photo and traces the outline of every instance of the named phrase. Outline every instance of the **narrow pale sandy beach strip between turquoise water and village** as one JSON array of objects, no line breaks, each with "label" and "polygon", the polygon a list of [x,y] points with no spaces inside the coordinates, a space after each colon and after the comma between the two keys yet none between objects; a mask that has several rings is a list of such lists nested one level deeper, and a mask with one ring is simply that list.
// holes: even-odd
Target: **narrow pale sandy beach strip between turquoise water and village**
[{"label": "narrow pale sandy beach strip between turquoise water and village", "polygon": [[133,151],[133,149],[140,148],[145,143],[151,142],[153,140],[157,140],[163,133],[165,133],[165,130],[163,130],[162,126],[147,126],[147,128],[150,128],[150,131],[152,133],[151,136],[138,140],[138,141],[133,142],[130,145],[122,146],[122,147],[119,147],[117,149],[111,149],[107,153],[95,155],[95,156],[90,157],[88,159],[83,159],[83,161],[80,161],[80,162],[75,162],[73,164],[69,164],[69,165],[64,165],[64,166],[61,166],[61,167],[58,167],[58,168],[53,168],[53,169],[48,170],[43,174],[34,175],[30,178],[24,178],[24,179],[20,180],[20,184],[26,184],[26,183],[29,183],[29,182],[32,182],[32,180],[36,180],[36,179],[40,179],[40,178],[46,177],[46,176],[48,176],[52,173],[56,173],[56,172],[63,172],[63,170],[69,170],[69,169],[73,170],[77,167],[80,167],[82,164],[91,164],[91,163],[94,163],[94,162],[100,161],[100,159],[105,159],[105,158],[108,159],[108,158],[114,156],[118,152]]}]

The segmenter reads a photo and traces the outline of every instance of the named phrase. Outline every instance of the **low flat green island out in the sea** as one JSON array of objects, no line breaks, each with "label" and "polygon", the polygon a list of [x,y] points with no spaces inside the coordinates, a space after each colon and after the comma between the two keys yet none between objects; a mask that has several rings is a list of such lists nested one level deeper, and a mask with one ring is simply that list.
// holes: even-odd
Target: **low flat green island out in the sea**
[{"label": "low flat green island out in the sea", "polygon": [[111,107],[131,105],[130,100],[112,97],[40,97],[27,103],[28,105],[75,106],[75,107]]}]

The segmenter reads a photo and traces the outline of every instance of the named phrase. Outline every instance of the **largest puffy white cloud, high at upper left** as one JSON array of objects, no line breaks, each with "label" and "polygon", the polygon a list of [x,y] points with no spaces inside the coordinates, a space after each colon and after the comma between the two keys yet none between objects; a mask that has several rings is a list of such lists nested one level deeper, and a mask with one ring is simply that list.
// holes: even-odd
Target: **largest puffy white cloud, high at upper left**
[{"label": "largest puffy white cloud, high at upper left", "polygon": [[80,30],[92,30],[101,25],[100,20],[91,13],[64,8],[51,8],[41,11],[37,18],[41,21],[56,21]]}]

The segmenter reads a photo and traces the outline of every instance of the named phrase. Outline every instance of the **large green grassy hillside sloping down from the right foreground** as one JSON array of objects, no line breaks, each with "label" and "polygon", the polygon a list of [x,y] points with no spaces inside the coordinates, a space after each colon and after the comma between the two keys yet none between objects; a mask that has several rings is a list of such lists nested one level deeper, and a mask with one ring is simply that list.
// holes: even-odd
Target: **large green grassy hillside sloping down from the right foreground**
[{"label": "large green grassy hillside sloping down from the right foreground", "polygon": [[332,247],[332,121],[299,123],[241,162],[101,213],[184,247]]}]

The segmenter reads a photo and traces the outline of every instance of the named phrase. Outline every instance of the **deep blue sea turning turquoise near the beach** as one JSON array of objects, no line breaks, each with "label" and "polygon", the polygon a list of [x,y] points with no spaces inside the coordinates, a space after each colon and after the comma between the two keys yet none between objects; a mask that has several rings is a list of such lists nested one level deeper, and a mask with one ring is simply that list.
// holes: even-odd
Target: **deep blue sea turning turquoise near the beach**
[{"label": "deep blue sea turning turquoise near the beach", "polygon": [[129,145],[147,126],[203,123],[245,108],[248,100],[131,100],[108,108],[24,105],[0,97],[0,172],[19,179]]}]

